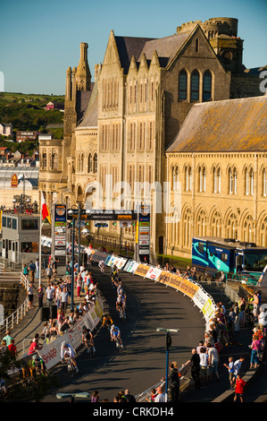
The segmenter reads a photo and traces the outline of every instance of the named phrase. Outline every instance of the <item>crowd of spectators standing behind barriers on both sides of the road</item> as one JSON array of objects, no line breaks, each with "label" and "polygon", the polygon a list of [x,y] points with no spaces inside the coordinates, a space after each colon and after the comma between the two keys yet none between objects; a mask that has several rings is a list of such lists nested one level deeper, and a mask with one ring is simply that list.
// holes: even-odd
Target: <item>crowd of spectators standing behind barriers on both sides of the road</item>
[{"label": "crowd of spectators standing behind barriers on both sides of the road", "polygon": [[[30,262],[28,266],[24,266],[23,273],[28,278],[30,277],[29,284],[29,308],[32,308],[33,303],[32,288],[36,278],[38,278],[38,262]],[[87,268],[79,266],[74,262],[74,286],[75,294],[80,298],[79,305],[70,309],[71,301],[71,271],[72,267],[68,265],[66,275],[58,279],[57,263],[48,262],[45,270],[46,288],[41,284],[38,289],[38,307],[41,308],[46,303],[47,305],[56,305],[56,317],[51,318],[45,322],[43,330],[36,333],[35,337],[31,340],[29,345],[29,356],[33,355],[40,349],[44,343],[49,343],[54,340],[58,335],[63,334],[65,331],[70,330],[76,322],[88,312],[88,310],[95,305],[97,296],[97,281],[90,271],[90,264]],[[158,267],[160,265],[158,264]],[[178,274],[185,279],[196,279],[196,268],[187,267],[182,272],[176,270],[168,263],[161,268],[164,271],[171,271]],[[71,311],[70,311],[71,310]],[[191,376],[194,381],[195,389],[201,388],[206,382],[215,380],[220,382],[220,354],[221,350],[229,344],[238,344],[236,333],[247,326],[247,323],[253,318],[254,329],[252,333],[252,340],[250,344],[251,357],[250,368],[257,368],[260,363],[261,353],[266,338],[267,320],[265,312],[261,307],[261,294],[255,291],[254,300],[246,301],[240,297],[238,303],[234,303],[226,311],[221,302],[217,303],[216,311],[213,320],[210,322],[209,329],[204,332],[204,339],[201,339],[192,349],[192,356],[185,365],[190,364]],[[13,358],[17,357],[17,350],[15,347],[14,339],[10,336],[10,331],[6,332],[5,337],[2,339],[0,352],[7,350],[12,354]],[[236,360],[229,357],[227,364],[223,365],[223,369],[229,372],[229,389],[235,390],[235,400],[243,401],[244,387],[246,382],[242,381],[241,367],[245,357],[239,356]],[[150,393],[149,398],[146,400],[150,402],[163,402],[165,400],[179,401],[179,369],[176,362],[170,365],[170,391],[171,395],[166,397],[163,392],[162,386],[158,386]],[[246,390],[246,389],[245,389]],[[94,391],[91,396],[92,402],[108,401],[102,399],[98,391]],[[135,398],[129,393],[129,389],[120,391],[113,398],[114,402],[133,402]]]}]

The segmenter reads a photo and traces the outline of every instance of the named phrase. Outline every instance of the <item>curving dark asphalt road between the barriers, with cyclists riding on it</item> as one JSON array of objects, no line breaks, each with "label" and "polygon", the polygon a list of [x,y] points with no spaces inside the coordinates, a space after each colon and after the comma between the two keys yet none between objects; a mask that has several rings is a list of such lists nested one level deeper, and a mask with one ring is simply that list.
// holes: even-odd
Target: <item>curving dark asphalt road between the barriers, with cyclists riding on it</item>
[{"label": "curving dark asphalt road between the barriers, with cyclists riding on it", "polygon": [[89,360],[82,349],[77,363],[79,374],[67,375],[66,365],[54,369],[62,387],[52,390],[43,402],[56,399],[57,392],[69,393],[97,390],[100,399],[113,401],[118,391],[129,388],[133,395],[146,391],[165,375],[165,333],[156,328],[179,329],[171,335],[169,361],[182,365],[191,357],[191,349],[204,337],[204,318],[188,296],[173,288],[121,272],[122,286],[127,293],[127,320],[121,322],[115,310],[116,293],[110,277],[95,271],[98,288],[110,307],[113,321],[121,329],[125,350],[119,356],[108,332],[101,328],[96,334],[96,357]]}]

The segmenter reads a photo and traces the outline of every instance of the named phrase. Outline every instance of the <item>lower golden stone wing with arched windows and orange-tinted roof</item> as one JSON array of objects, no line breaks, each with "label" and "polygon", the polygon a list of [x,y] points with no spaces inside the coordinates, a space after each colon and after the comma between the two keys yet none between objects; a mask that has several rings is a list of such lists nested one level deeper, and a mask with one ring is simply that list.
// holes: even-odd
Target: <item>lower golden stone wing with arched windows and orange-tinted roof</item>
[{"label": "lower golden stone wing with arched windows and orange-tinted roof", "polygon": [[266,111],[266,95],[192,108],[166,151],[165,253],[190,257],[192,236],[267,246]]}]

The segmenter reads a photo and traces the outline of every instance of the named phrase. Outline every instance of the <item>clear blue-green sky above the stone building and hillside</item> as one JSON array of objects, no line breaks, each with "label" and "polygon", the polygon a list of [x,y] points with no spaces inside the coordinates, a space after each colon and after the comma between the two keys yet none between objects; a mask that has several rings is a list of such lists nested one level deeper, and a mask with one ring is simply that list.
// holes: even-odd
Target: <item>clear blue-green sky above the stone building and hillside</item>
[{"label": "clear blue-green sky above the stone building and hillside", "polygon": [[63,95],[80,42],[88,43],[94,81],[111,30],[163,38],[184,22],[213,17],[238,19],[246,68],[267,64],[266,0],[0,0],[0,16],[0,91]]}]

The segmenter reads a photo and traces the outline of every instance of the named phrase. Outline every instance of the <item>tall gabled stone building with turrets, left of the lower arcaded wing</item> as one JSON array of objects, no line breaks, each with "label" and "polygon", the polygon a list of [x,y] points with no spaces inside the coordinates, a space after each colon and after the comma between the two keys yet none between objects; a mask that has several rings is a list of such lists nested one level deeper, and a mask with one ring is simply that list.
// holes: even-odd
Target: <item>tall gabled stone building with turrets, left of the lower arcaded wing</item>
[{"label": "tall gabled stone building with turrets, left of the lower arcaded wing", "polygon": [[[40,156],[46,156],[40,189],[50,201],[61,197],[68,205],[84,205],[89,200],[93,206],[101,185],[108,209],[118,195],[127,209],[146,199],[152,210],[151,251],[163,253],[169,247],[166,150],[195,105],[262,95],[260,70],[249,72],[243,64],[238,20],[231,18],[188,22],[162,39],[117,36],[112,30],[94,83],[87,52],[88,45],[81,43],[77,69],[67,70],[63,141],[40,144]],[[127,188],[116,190],[120,182]],[[101,235],[132,244],[134,227],[110,222]]]}]

